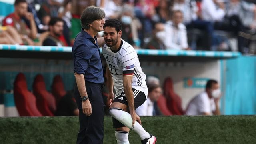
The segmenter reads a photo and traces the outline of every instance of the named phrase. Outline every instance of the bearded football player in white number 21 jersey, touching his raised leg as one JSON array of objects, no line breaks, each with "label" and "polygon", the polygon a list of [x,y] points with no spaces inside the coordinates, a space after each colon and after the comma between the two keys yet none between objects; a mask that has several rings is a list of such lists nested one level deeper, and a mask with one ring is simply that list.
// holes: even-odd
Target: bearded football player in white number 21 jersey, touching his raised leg
[{"label": "bearded football player in white number 21 jersey, touching his raised leg", "polygon": [[[117,19],[108,19],[104,24],[103,56],[107,63],[109,113],[113,116],[118,144],[129,144],[129,130],[134,130],[141,138],[142,144],[155,144],[152,136],[141,125],[135,109],[146,100],[148,89],[146,76],[134,48],[121,39],[122,23]],[[115,94],[113,92],[115,89]]]}]

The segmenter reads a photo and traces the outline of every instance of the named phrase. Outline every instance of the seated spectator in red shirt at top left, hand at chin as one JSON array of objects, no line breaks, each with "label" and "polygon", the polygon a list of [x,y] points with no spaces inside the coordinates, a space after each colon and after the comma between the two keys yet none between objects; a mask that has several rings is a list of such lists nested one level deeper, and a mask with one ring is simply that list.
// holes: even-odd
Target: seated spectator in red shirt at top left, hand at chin
[{"label": "seated spectator in red shirt at top left, hand at chin", "polygon": [[[13,26],[23,39],[27,40],[29,43],[29,38],[35,39],[37,30],[34,21],[34,16],[32,13],[27,11],[28,3],[26,0],[16,0],[14,3],[14,13],[9,14],[3,20],[3,26]],[[22,20],[22,17],[26,17],[30,21],[30,29]],[[29,37],[29,38],[28,38]]]}]

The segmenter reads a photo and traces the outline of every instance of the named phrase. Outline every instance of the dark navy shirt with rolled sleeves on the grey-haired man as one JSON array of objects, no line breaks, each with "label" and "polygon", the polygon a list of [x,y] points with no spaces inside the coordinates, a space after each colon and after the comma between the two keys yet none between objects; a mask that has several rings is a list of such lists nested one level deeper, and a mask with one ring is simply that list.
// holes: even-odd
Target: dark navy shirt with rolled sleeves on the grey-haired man
[{"label": "dark navy shirt with rolled sleeves on the grey-haired man", "polygon": [[[94,37],[96,40],[96,37]],[[72,54],[74,58],[74,72],[84,74],[88,82],[103,84],[103,68],[100,58],[100,49],[92,36],[84,30],[76,36]]]}]

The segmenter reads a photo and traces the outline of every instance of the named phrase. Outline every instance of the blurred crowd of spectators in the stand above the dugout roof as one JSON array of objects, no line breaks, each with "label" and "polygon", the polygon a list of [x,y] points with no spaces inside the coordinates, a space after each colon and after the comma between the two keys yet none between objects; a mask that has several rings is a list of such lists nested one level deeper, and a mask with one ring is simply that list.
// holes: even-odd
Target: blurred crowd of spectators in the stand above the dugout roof
[{"label": "blurred crowd of spectators in the stand above the dugout roof", "polygon": [[256,5],[245,0],[16,0],[0,44],[72,46],[91,5],[120,19],[134,48],[256,54]]}]

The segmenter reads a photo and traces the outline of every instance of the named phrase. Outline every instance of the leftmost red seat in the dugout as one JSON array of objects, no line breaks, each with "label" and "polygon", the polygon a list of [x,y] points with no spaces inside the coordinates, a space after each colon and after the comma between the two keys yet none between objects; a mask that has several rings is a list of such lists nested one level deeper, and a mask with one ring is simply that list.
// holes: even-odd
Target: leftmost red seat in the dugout
[{"label": "leftmost red seat in the dugout", "polygon": [[20,116],[42,116],[36,97],[28,91],[25,75],[19,73],[14,81],[14,101]]}]

